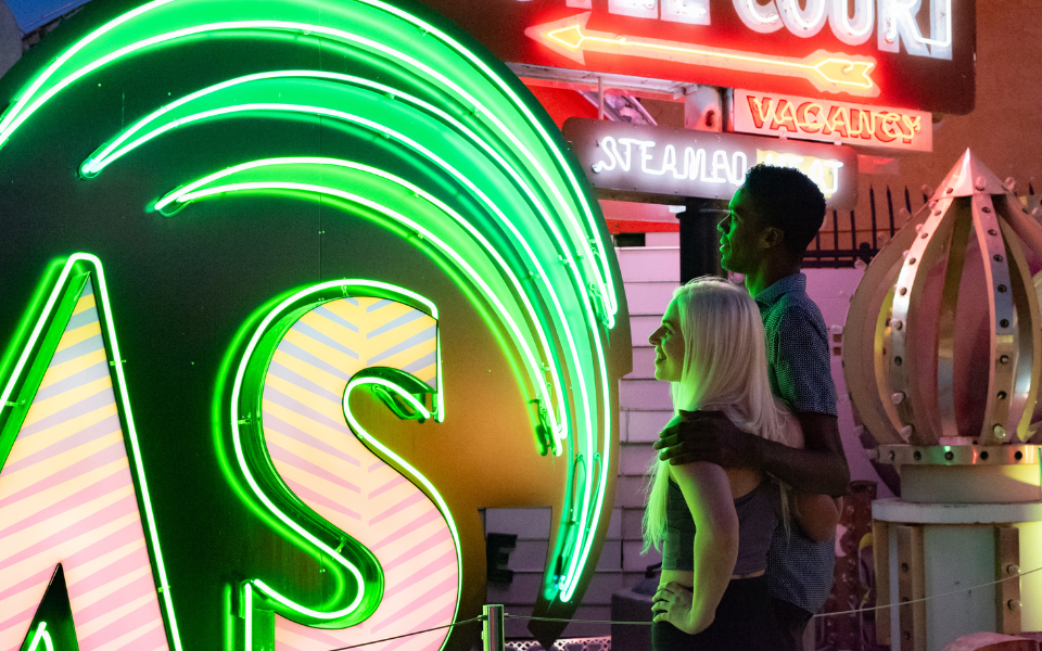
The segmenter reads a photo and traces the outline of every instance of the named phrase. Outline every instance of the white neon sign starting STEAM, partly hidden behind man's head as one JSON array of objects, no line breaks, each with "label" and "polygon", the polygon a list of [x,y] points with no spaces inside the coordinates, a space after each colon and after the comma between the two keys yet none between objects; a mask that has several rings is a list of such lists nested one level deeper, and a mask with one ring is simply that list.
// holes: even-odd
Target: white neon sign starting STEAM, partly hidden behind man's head
[{"label": "white neon sign starting STEAM, partly hidden behind man's head", "polygon": [[849,146],[581,117],[567,120],[563,130],[603,199],[727,200],[750,167],[767,163],[806,174],[830,208],[853,207],[857,201],[857,156]]}]

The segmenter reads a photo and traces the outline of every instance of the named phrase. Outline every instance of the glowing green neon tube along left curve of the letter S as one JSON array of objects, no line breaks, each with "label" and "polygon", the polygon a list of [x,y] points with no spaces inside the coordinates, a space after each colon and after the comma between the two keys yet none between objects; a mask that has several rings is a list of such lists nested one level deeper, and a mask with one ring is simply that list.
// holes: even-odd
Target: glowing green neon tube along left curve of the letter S
[{"label": "glowing green neon tube along left curve of the letter S", "polygon": [[[300,603],[296,603],[294,600],[290,599],[289,597],[285,597],[284,595],[282,595],[281,592],[279,592],[278,590],[276,590],[275,588],[272,588],[271,586],[269,586],[268,584],[266,584],[264,580],[259,578],[250,579],[247,582],[247,586],[252,585],[254,588],[256,588],[257,591],[264,593],[265,597],[281,603],[287,609],[292,610],[304,617],[309,617],[318,621],[334,621],[334,620],[342,620],[344,617],[351,616],[361,604],[363,599],[366,596],[367,586],[366,586],[365,579],[361,575],[361,572],[358,570],[358,567],[354,563],[345,559],[343,556],[341,556],[336,550],[331,548],[329,545],[326,545],[325,542],[319,540],[318,537],[316,537],[314,534],[308,532],[301,524],[296,523],[292,518],[290,518],[284,512],[282,512],[282,510],[279,509],[267,495],[265,495],[259,484],[257,484],[256,478],[254,478],[253,473],[251,473],[250,467],[246,463],[245,455],[242,449],[242,439],[239,432],[239,418],[240,418],[239,400],[242,392],[243,381],[245,380],[246,367],[250,362],[251,357],[256,350],[257,345],[260,342],[260,337],[264,335],[265,332],[267,332],[271,323],[277,318],[279,318],[282,314],[284,314],[287,309],[289,309],[292,305],[300,302],[301,299],[306,298],[309,295],[317,294],[334,288],[374,288],[378,290],[383,290],[385,292],[391,292],[399,296],[407,297],[412,303],[418,303],[420,305],[423,305],[430,310],[429,314],[431,314],[433,318],[435,319],[437,318],[437,308],[434,306],[434,304],[431,303],[428,298],[417,294],[416,292],[411,292],[404,288],[399,288],[390,283],[374,281],[374,280],[358,280],[358,279],[334,280],[334,281],[320,283],[320,284],[307,288],[305,290],[302,290],[300,292],[296,292],[290,297],[279,303],[279,305],[275,307],[275,309],[269,311],[264,317],[259,326],[257,326],[257,328],[255,329],[253,336],[250,339],[250,342],[246,344],[245,349],[243,350],[242,358],[236,371],[236,379],[234,379],[234,382],[232,383],[231,398],[229,400],[229,408],[227,412],[229,418],[228,423],[230,426],[230,431],[232,432],[232,442],[236,448],[236,459],[239,462],[239,468],[242,471],[243,476],[246,478],[246,483],[250,485],[250,488],[253,490],[254,495],[257,497],[257,499],[260,500],[262,503],[264,503],[264,506],[268,509],[268,511],[275,514],[287,526],[289,526],[291,529],[296,532],[304,539],[306,539],[317,548],[321,549],[325,553],[329,554],[330,558],[332,558],[342,567],[347,570],[347,572],[355,577],[355,580],[357,582],[357,585],[358,585],[358,591],[355,595],[355,598],[352,600],[352,602],[347,607],[327,612],[327,611],[318,611],[315,609],[301,605]],[[441,369],[439,369],[439,393],[441,393]],[[452,519],[452,515],[447,511],[443,512],[443,515],[446,518],[446,520]],[[455,531],[455,523],[450,526]],[[454,540],[456,538],[454,538]],[[456,553],[458,558],[458,554],[459,554],[458,540],[456,542]],[[458,608],[458,600],[457,600],[457,608]]]}]

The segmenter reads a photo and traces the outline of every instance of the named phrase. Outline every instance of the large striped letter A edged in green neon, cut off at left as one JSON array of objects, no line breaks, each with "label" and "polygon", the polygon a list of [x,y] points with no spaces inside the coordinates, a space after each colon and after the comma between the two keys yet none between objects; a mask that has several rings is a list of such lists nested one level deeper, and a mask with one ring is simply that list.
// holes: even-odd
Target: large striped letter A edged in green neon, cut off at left
[{"label": "large striped letter A edged in green neon, cut off at left", "polygon": [[180,649],[119,365],[101,264],[60,261],[0,366],[2,651],[59,563],[81,651]]}]

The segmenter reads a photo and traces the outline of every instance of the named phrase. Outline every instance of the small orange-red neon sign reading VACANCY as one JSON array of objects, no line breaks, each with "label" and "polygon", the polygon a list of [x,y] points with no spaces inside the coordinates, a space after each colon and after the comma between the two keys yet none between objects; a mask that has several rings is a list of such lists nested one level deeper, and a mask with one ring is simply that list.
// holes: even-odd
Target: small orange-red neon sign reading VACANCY
[{"label": "small orange-red neon sign reading VACANCY", "polygon": [[897,150],[933,151],[924,111],[735,90],[735,130]]}]

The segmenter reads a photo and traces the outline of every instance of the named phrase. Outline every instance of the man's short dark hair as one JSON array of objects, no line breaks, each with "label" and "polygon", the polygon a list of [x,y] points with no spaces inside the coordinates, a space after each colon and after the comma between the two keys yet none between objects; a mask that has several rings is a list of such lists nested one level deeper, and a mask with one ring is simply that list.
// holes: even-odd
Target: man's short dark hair
[{"label": "man's short dark hair", "polygon": [[825,221],[825,195],[817,184],[793,167],[761,163],[746,173],[742,188],[757,206],[761,226],[780,229],[786,248],[802,258]]}]

